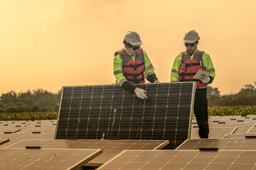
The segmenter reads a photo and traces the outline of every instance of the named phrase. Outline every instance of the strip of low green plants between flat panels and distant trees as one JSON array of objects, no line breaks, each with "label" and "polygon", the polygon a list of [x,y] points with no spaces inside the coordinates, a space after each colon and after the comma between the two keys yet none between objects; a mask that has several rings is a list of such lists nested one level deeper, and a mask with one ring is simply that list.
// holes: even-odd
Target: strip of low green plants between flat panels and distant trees
[{"label": "strip of low green plants between flat panels and distant trees", "polygon": [[[256,106],[224,106],[208,108],[213,115],[256,115]],[[58,118],[58,112],[0,113],[0,120],[52,120]]]}]

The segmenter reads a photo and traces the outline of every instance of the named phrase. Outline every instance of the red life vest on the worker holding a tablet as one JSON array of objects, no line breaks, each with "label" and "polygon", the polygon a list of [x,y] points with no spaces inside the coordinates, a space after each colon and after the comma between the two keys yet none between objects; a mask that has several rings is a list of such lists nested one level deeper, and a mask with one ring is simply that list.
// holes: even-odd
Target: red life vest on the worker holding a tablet
[{"label": "red life vest on the worker holding a tablet", "polygon": [[178,70],[180,81],[196,81],[196,87],[205,87],[206,84],[202,81],[193,79],[199,69],[205,69],[203,67],[203,52],[197,50],[192,60],[188,52],[181,52],[181,55],[181,66]]}]

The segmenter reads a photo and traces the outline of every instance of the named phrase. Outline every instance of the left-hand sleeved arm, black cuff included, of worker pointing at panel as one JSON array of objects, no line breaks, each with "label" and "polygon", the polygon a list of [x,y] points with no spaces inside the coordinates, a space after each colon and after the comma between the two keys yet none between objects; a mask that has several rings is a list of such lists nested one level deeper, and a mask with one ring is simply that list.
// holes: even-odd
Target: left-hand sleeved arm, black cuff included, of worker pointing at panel
[{"label": "left-hand sleeved arm, black cuff included, of worker pointing at panel", "polygon": [[130,84],[129,81],[127,81],[127,79],[125,79],[124,75],[122,74],[122,57],[119,54],[114,56],[113,72],[117,84],[119,84],[119,86],[121,86],[122,89],[133,93],[135,86],[132,86],[132,84]]}]

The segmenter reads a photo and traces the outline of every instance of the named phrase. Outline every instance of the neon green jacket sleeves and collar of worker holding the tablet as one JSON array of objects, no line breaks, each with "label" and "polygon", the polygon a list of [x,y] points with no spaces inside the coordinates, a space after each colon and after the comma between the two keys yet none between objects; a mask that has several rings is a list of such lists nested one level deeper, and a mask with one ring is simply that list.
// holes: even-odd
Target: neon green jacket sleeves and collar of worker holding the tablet
[{"label": "neon green jacket sleeves and collar of worker holding the tablet", "polygon": [[[191,57],[191,60],[193,59],[193,56],[195,55],[196,51],[198,50],[198,48],[196,47],[196,50],[193,52],[193,54],[190,56]],[[182,55],[181,53],[179,53],[175,60],[174,60],[174,64],[173,64],[173,67],[171,69],[171,81],[172,82],[178,82],[179,81],[179,78],[178,78],[178,70],[180,69],[181,67],[181,58],[182,58]],[[208,55],[206,52],[203,52],[203,57],[202,57],[202,60],[203,60],[203,67],[206,69],[206,70],[209,70],[211,71],[210,73],[210,77],[214,79],[215,77],[215,69],[213,67],[213,62],[212,60],[210,59],[210,55]]]}]

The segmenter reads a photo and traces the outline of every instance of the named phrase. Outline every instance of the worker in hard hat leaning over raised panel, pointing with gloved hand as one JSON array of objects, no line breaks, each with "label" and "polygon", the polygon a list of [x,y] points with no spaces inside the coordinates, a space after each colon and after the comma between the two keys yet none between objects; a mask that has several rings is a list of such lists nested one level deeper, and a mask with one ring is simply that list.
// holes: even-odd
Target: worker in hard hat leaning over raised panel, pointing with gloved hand
[{"label": "worker in hard hat leaning over raised panel, pointing with gloved hand", "polygon": [[124,90],[135,93],[137,97],[147,98],[146,91],[132,84],[144,84],[145,78],[159,84],[146,52],[142,50],[139,34],[129,31],[123,40],[124,48],[115,52],[113,61],[114,77]]}]

